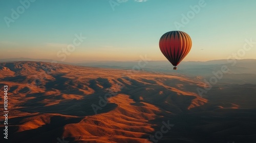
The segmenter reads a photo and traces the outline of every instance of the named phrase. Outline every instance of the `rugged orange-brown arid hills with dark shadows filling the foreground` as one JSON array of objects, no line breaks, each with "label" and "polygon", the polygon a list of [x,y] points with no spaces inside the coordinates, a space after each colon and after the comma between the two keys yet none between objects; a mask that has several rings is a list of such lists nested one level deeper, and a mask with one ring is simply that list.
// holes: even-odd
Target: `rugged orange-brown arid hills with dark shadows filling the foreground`
[{"label": "rugged orange-brown arid hills with dark shadows filling the foreground", "polygon": [[202,77],[3,62],[1,114],[5,85],[1,142],[256,142],[256,85],[232,78],[200,96]]}]

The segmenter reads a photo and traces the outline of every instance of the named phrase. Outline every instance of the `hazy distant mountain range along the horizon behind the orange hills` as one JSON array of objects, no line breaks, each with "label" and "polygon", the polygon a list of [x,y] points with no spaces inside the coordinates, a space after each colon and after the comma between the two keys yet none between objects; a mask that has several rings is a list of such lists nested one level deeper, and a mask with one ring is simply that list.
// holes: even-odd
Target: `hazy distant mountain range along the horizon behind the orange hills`
[{"label": "hazy distant mountain range along the horizon behind the orange hills", "polygon": [[[229,69],[228,74],[256,74],[256,59],[222,59],[222,60],[210,60],[210,61],[182,61],[177,67],[177,70],[173,70],[173,65],[167,60],[165,61],[83,61],[79,63],[69,63],[62,61],[54,61],[51,59],[31,59],[31,58],[11,58],[0,59],[0,62],[12,62],[12,61],[37,61],[37,62],[57,62],[62,64],[90,66],[90,67],[103,67],[103,68],[116,68],[116,69],[134,69],[134,70],[147,70],[163,73],[176,73],[184,74],[187,76],[212,76],[213,71],[221,70],[222,66],[227,66]],[[243,75],[242,75],[243,76]]]}]

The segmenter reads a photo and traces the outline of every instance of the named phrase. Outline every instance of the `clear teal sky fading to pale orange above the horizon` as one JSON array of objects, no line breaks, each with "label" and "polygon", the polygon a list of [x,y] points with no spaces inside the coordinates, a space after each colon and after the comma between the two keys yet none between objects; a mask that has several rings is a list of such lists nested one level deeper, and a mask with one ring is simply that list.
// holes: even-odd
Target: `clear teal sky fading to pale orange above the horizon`
[{"label": "clear teal sky fading to pale orange above the horizon", "polygon": [[[28,2],[21,0],[25,1]],[[60,55],[65,54],[61,50],[73,43],[75,34],[86,39],[75,51],[65,54],[65,62],[138,60],[140,55],[166,60],[158,42],[165,32],[173,30],[188,33],[193,41],[184,61],[227,59],[232,53],[241,52],[245,39],[256,41],[256,1],[205,0],[205,6],[194,12],[195,16],[182,22],[182,14],[193,11],[191,7],[200,1],[36,0],[8,23],[10,27],[6,17],[12,18],[12,9],[17,12],[22,4],[0,1],[0,59],[61,61]],[[110,2],[118,5],[113,7]],[[177,29],[175,22],[183,27]],[[241,58],[255,59],[255,53],[256,44]]]}]

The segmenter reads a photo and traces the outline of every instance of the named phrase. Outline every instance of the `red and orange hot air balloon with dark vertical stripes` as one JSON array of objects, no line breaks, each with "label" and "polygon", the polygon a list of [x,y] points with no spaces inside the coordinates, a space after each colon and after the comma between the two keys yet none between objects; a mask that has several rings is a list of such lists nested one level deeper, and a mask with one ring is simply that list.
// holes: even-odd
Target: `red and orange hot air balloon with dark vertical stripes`
[{"label": "red and orange hot air balloon with dark vertical stripes", "polygon": [[159,47],[163,55],[173,64],[174,69],[186,57],[192,46],[189,35],[182,31],[170,31],[163,34]]}]

